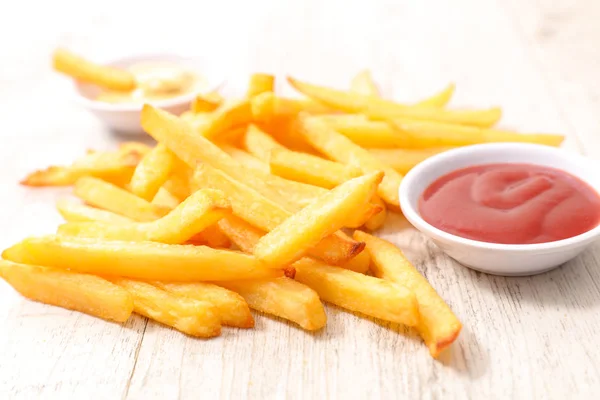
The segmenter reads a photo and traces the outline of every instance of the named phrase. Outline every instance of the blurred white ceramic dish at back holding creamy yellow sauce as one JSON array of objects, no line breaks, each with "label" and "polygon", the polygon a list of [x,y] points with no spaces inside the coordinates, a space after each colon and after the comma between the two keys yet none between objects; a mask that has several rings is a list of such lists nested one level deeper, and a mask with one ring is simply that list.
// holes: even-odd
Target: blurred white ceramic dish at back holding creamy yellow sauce
[{"label": "blurred white ceramic dish at back holding creamy yellow sauce", "polygon": [[[192,71],[196,71],[208,82],[206,89],[202,90],[204,93],[217,90],[224,83],[224,79],[218,73],[218,70],[214,69],[214,67],[211,69],[210,65],[213,65],[214,63],[202,63],[202,61],[197,58],[189,58],[173,54],[137,55],[119,58],[107,62],[106,64],[117,67],[128,67],[132,64],[148,61],[170,62],[186,66]],[[111,104],[102,101],[96,101],[94,99],[100,90],[101,89],[97,86],[74,81],[75,101],[98,117],[98,119],[104,122],[106,126],[120,133],[131,135],[143,134],[144,131],[140,126],[140,113],[142,111],[142,104]],[[197,94],[197,92],[193,92],[183,96],[174,97],[172,99],[152,101],[150,103],[156,107],[179,115],[189,109],[190,103]]]}]

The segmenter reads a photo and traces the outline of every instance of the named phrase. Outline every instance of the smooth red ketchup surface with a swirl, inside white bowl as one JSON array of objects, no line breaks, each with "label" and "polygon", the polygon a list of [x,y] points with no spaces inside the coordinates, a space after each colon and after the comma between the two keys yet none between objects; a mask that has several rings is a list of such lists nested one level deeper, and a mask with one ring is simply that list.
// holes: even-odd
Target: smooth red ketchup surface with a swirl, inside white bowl
[{"label": "smooth red ketchup surface with a swirl, inside white bowl", "polygon": [[600,223],[600,196],[579,178],[549,167],[486,164],[438,178],[419,212],[438,229],[504,244],[577,236]]}]

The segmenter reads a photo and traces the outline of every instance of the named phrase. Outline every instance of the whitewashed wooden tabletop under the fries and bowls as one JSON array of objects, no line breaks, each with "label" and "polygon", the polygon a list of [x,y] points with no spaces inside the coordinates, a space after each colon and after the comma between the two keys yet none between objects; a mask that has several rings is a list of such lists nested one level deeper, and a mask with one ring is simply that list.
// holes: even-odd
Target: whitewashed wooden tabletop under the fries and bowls
[{"label": "whitewashed wooden tabletop under the fries and bowls", "polygon": [[[51,73],[57,45],[104,57],[201,54],[241,93],[270,71],[343,87],[373,70],[387,96],[457,84],[457,106],[502,105],[502,124],[559,132],[600,156],[600,2],[551,0],[13,2],[0,16],[0,245],[60,222],[69,190],[25,189],[26,172],[114,147]],[[34,10],[35,9],[35,10]],[[599,171],[600,172],[600,171]],[[432,360],[413,333],[327,307],[310,334],[257,315],[203,341],[133,317],[124,326],[24,300],[0,283],[0,398],[593,398],[600,389],[600,243],[552,272],[503,278],[442,254],[399,216],[404,249],[464,323]]]}]

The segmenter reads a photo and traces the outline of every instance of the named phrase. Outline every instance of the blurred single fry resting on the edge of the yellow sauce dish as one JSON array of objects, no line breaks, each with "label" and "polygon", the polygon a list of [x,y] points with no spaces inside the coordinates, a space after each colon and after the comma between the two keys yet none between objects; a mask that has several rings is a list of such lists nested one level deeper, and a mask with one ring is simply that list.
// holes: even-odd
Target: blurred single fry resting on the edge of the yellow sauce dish
[{"label": "blurred single fry resting on the edge of the yellow sauce dish", "polygon": [[65,49],[57,49],[52,56],[52,66],[58,72],[81,82],[106,89],[128,91],[135,89],[135,76],[126,70],[88,61]]}]

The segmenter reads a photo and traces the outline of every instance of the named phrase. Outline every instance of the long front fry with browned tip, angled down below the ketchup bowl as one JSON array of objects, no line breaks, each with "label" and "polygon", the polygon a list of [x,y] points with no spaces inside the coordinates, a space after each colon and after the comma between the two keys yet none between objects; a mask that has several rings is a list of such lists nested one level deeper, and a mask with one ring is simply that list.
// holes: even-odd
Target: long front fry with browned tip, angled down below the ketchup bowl
[{"label": "long front fry with browned tip, angled down below the ketchup bowl", "polygon": [[[375,276],[396,282],[415,293],[421,315],[417,329],[431,355],[437,357],[460,333],[462,324],[456,315],[400,249],[364,232],[356,231],[354,237],[367,243]],[[296,274],[296,278],[301,274],[297,267]]]}]

